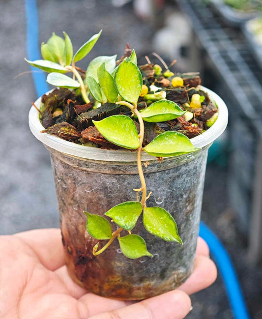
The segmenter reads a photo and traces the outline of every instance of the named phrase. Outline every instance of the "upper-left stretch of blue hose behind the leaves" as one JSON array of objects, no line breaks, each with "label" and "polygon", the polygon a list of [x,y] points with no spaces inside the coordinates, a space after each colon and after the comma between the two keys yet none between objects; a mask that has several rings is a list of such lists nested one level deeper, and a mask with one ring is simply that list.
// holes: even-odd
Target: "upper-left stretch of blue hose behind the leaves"
[{"label": "upper-left stretch of blue hose behind the leaves", "polygon": [[[36,0],[26,0],[26,17],[27,17],[27,54],[29,60],[40,59],[38,43],[38,18]],[[49,90],[46,83],[44,72],[30,66],[33,76],[34,87],[37,96],[42,96]],[[36,71],[36,72],[35,72]]]}]

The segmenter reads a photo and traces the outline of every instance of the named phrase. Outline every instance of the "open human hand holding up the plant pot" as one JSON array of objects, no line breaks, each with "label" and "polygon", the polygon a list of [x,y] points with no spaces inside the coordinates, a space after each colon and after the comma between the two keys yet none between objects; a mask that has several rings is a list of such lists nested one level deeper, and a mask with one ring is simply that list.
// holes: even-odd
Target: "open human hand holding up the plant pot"
[{"label": "open human hand holding up the plant pot", "polygon": [[0,319],[183,319],[189,294],[211,285],[216,267],[198,240],[195,268],[179,287],[140,302],[97,296],[67,274],[58,229],[0,236]]}]

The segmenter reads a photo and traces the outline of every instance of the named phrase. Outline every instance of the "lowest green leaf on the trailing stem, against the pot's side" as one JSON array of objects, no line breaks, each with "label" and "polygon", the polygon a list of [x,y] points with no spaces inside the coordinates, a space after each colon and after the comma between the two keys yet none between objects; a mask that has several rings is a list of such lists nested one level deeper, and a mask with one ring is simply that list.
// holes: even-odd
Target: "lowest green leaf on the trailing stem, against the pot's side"
[{"label": "lowest green leaf on the trailing stem, against the pot's side", "polygon": [[145,240],[139,235],[127,235],[118,237],[121,251],[125,257],[130,259],[140,258],[142,256],[153,257],[146,249]]}]

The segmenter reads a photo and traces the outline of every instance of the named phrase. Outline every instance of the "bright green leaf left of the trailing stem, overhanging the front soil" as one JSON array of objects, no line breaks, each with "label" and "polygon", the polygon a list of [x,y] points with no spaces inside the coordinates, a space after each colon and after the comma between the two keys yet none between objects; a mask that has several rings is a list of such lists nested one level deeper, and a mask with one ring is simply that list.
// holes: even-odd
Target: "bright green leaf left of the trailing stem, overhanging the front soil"
[{"label": "bright green leaf left of the trailing stem, overhanging the front soil", "polygon": [[133,120],[126,115],[113,115],[101,121],[92,121],[98,131],[110,142],[128,149],[140,147]]}]

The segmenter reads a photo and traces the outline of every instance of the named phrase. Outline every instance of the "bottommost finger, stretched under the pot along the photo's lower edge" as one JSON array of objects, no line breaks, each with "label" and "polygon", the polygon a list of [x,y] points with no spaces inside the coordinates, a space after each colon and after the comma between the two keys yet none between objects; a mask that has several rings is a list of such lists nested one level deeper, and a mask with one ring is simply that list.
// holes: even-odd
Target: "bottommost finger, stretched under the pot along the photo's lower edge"
[{"label": "bottommost finger, stretched under the pot along the photo's lower edge", "polygon": [[181,290],[173,290],[89,319],[183,319],[190,310],[189,296]]}]

